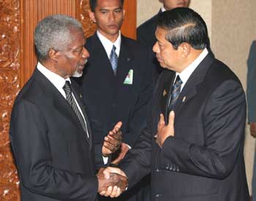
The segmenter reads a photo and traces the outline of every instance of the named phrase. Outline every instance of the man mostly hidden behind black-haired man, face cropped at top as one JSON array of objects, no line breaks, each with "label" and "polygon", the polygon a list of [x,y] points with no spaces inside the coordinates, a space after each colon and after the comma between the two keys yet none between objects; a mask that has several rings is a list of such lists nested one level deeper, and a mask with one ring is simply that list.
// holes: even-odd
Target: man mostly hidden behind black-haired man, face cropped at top
[{"label": "man mostly hidden behind black-haired man, face cropped at top", "polygon": [[[154,35],[154,32],[157,29],[157,20],[159,15],[165,10],[172,10],[176,7],[188,7],[189,0],[159,0],[162,2],[162,8],[159,10],[157,15],[154,15],[152,18],[146,20],[137,28],[137,40],[143,45],[153,48],[153,45],[157,42],[157,39]],[[157,61],[157,58],[152,53],[152,60],[154,64],[154,82],[157,81],[159,73],[162,72],[162,68]]]}]

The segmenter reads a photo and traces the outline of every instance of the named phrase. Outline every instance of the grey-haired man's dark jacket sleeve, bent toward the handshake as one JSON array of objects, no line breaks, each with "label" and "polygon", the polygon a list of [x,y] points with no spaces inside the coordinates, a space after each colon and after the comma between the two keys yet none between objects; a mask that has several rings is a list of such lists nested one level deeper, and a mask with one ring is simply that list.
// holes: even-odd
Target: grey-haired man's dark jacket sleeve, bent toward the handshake
[{"label": "grey-haired man's dark jacket sleeve, bent toward the handshake", "polygon": [[10,139],[20,181],[29,191],[56,200],[96,199],[96,177],[53,166],[47,121],[37,105],[26,100],[15,105]]}]

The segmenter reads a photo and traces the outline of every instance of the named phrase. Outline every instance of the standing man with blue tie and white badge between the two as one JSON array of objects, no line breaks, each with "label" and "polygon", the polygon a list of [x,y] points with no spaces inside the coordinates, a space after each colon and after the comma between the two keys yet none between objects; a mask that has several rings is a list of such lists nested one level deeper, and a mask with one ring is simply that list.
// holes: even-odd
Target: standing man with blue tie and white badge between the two
[{"label": "standing man with blue tie and white badge between the two", "polygon": [[[123,0],[90,1],[90,17],[97,24],[97,31],[87,39],[86,48],[91,57],[86,64],[82,88],[94,133],[98,169],[105,163],[102,143],[109,128],[118,121],[123,123],[120,153],[114,160],[110,155],[105,158],[112,157],[112,163],[118,164],[146,125],[148,102],[153,94],[149,48],[120,32],[123,4]],[[131,194],[135,194],[134,191]]]}]

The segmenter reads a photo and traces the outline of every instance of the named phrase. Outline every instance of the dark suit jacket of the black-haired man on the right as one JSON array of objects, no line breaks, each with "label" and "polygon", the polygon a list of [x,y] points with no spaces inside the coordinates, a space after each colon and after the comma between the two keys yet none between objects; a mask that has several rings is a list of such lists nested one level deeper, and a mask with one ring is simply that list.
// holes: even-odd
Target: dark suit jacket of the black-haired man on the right
[{"label": "dark suit jacket of the black-haired man on the right", "polygon": [[167,118],[163,91],[170,91],[173,75],[165,70],[159,76],[147,127],[120,164],[129,186],[151,171],[152,200],[249,200],[243,155],[246,100],[240,81],[208,54],[178,97],[175,136],[159,148],[154,135],[159,114]]}]

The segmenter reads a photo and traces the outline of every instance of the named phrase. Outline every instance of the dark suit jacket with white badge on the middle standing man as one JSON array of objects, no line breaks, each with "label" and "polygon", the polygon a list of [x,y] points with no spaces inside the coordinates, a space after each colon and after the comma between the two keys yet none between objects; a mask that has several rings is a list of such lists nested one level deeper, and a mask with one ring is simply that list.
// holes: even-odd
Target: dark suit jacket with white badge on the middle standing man
[{"label": "dark suit jacket with white badge on the middle standing man", "polygon": [[[97,34],[86,42],[90,58],[83,78],[83,100],[94,135],[97,167],[102,167],[102,143],[113,126],[122,121],[123,141],[133,146],[146,125],[148,101],[153,94],[149,50],[121,37],[116,76]],[[132,84],[124,84],[133,70]]]}]

